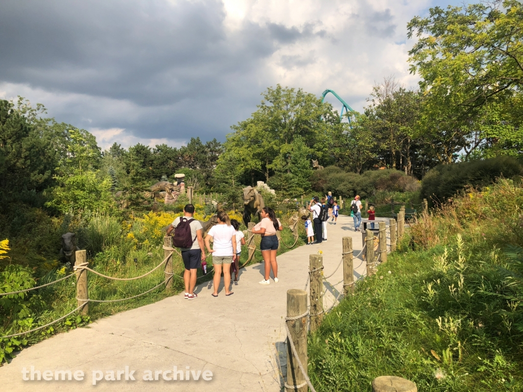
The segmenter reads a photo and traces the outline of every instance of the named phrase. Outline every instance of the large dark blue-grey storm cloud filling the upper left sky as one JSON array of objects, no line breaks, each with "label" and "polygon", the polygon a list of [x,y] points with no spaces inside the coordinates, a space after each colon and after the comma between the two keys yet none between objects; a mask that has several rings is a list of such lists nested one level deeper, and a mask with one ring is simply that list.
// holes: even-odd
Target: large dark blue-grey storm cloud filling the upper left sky
[{"label": "large dark blue-grey storm cloud filling the upper left sky", "polygon": [[[0,80],[125,100],[139,112],[118,119],[84,113],[98,128],[155,137],[172,137],[177,128],[185,139],[195,133],[208,139],[219,130],[223,139],[237,116],[228,111],[233,105],[227,98],[245,94],[246,88],[262,90],[254,77],[263,74],[259,63],[279,43],[312,34],[312,26],[299,30],[247,22],[227,36],[224,17],[219,1],[4,0]],[[252,93],[249,97],[234,108],[245,116],[247,106],[253,110],[259,101]]]}]

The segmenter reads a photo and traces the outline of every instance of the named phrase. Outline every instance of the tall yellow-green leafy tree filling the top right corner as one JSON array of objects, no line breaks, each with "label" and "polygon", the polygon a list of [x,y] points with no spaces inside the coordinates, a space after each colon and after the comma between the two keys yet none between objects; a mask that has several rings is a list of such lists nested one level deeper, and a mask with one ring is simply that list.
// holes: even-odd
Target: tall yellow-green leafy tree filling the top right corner
[{"label": "tall yellow-green leafy tree filling the top right corner", "polygon": [[522,151],[523,6],[495,1],[430,8],[408,24],[425,97],[422,124],[441,163]]}]

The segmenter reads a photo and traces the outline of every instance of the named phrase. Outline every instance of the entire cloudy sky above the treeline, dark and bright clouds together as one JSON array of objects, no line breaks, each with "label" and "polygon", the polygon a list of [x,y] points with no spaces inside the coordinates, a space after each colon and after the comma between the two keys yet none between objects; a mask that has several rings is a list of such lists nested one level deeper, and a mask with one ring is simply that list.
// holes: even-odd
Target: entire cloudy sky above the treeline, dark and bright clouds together
[{"label": "entire cloudy sky above the treeline, dark and bright clouds together", "polygon": [[355,110],[384,76],[415,87],[406,24],[448,4],[458,2],[2,0],[0,98],[43,103],[102,148],[224,141],[278,83],[333,89]]}]

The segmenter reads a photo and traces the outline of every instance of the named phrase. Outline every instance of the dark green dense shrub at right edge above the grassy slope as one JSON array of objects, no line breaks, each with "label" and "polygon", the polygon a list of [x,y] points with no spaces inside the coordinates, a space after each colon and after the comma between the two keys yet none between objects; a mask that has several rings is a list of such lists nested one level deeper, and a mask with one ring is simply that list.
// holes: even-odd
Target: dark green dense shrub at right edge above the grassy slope
[{"label": "dark green dense shrub at right edge above the grassy slope", "polygon": [[439,165],[429,170],[423,178],[421,193],[431,203],[439,204],[467,186],[483,188],[499,177],[513,178],[522,174],[523,167],[512,157]]}]

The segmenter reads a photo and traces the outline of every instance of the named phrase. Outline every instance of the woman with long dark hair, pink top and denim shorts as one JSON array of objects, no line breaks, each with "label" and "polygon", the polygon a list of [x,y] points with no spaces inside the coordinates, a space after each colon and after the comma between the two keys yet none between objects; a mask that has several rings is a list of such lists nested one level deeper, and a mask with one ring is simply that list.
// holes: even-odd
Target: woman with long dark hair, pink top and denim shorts
[{"label": "woman with long dark hair, pink top and denim shorts", "polygon": [[265,261],[265,277],[259,284],[270,284],[270,269],[274,275],[274,282],[278,283],[278,263],[276,252],[278,251],[277,230],[283,230],[280,220],[276,217],[274,210],[270,207],[261,209],[261,221],[253,227],[253,234],[261,235],[260,250]]}]

